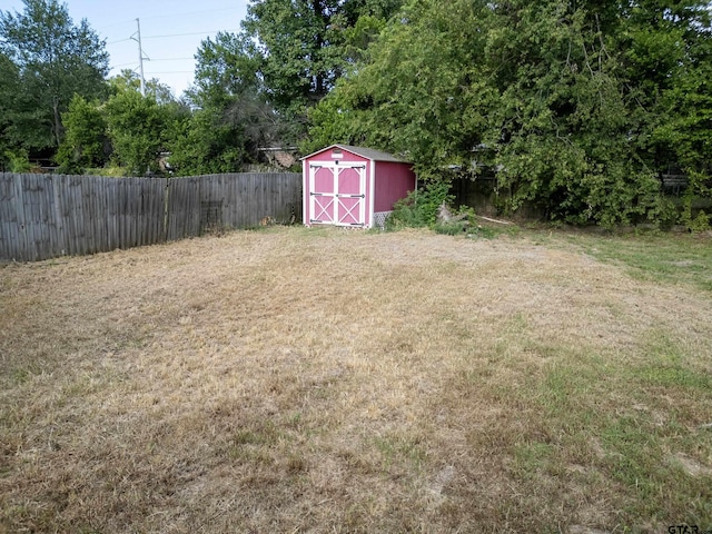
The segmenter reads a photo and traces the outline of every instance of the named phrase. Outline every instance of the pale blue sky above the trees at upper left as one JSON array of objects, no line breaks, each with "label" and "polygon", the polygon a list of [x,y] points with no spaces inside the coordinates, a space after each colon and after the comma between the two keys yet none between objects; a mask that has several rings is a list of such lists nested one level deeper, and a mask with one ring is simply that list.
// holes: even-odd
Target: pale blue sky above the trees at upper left
[{"label": "pale blue sky above the trees at upper left", "polygon": [[[192,83],[200,42],[218,31],[237,32],[248,0],[60,0],[75,24],[87,19],[106,39],[109,76],[123,69],[139,72],[137,38],[139,19],[144,49],[144,77],[158,78],[180,97]],[[21,0],[0,0],[0,10],[22,13]],[[148,59],[146,59],[148,58]]]}]

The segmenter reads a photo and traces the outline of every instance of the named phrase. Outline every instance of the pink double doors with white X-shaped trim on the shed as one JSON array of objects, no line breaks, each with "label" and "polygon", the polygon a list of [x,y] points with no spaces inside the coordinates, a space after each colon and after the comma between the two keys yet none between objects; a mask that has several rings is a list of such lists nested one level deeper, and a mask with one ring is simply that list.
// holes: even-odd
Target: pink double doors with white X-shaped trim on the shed
[{"label": "pink double doors with white X-shaped trim on the shed", "polygon": [[309,219],[336,226],[364,226],[366,165],[309,164]]}]

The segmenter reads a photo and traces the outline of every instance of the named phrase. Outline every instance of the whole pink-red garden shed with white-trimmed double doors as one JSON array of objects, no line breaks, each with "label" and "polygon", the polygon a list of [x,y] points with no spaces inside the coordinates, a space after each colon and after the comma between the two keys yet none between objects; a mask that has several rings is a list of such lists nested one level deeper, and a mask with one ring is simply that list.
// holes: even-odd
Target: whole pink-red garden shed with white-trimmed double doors
[{"label": "whole pink-red garden shed with white-trimmed double doors", "polygon": [[332,145],[301,161],[307,226],[383,226],[393,205],[416,188],[409,162],[370,148]]}]

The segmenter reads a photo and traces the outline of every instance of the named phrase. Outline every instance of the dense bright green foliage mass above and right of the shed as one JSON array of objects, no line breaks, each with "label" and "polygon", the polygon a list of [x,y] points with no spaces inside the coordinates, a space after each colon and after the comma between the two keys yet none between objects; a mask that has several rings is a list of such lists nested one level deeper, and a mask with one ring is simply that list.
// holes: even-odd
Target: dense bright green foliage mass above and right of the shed
[{"label": "dense bright green foliage mass above and right of the shed", "polygon": [[310,113],[312,138],[407,154],[422,177],[496,169],[507,211],[670,224],[659,175],[710,176],[704,6],[412,0]]}]

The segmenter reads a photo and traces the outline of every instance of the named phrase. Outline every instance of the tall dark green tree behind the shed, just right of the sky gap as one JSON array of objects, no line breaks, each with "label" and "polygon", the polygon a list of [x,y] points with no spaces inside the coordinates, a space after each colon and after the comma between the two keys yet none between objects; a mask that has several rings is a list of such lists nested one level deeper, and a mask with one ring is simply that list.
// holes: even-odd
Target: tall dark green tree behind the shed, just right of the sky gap
[{"label": "tall dark green tree behind the shed, just right of the sky gap", "polygon": [[[334,88],[402,0],[255,0],[245,30],[257,39],[268,100],[303,130],[306,112]],[[360,21],[360,23],[358,23]]]}]

